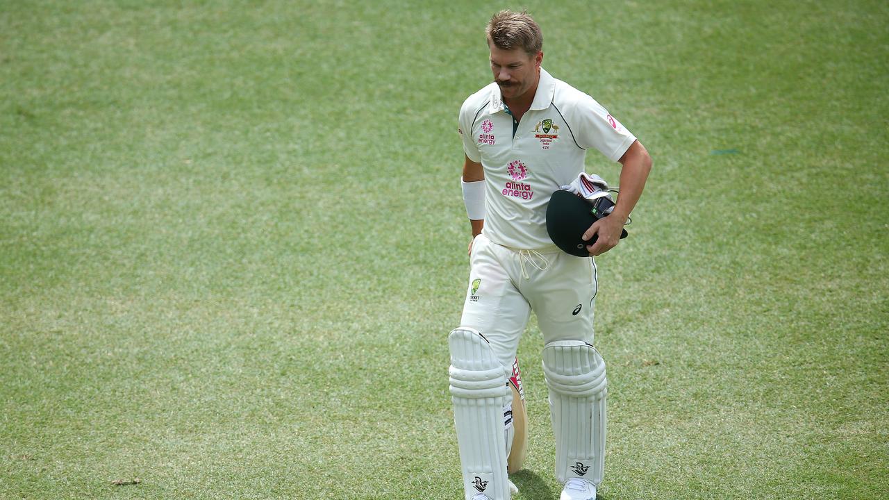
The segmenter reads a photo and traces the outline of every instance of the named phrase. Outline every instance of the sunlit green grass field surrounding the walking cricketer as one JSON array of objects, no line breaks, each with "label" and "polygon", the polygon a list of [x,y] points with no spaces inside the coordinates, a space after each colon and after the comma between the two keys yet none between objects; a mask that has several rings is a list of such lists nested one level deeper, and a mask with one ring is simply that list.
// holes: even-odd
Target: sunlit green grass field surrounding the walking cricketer
[{"label": "sunlit green grass field surrounding the walking cricketer", "polygon": [[[506,6],[654,159],[597,259],[600,498],[889,497],[889,4],[4,0],[0,498],[461,498]],[[541,348],[516,500],[561,489]]]}]

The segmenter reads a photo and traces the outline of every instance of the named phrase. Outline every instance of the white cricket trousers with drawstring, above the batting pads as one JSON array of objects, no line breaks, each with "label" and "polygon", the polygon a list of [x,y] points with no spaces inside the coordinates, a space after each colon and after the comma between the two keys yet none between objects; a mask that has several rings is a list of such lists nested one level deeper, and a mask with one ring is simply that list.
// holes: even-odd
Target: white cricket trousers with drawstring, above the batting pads
[{"label": "white cricket trousers with drawstring, above the batting pads", "polygon": [[543,342],[593,343],[596,263],[558,248],[539,253],[497,245],[476,237],[461,327],[485,336],[504,367],[516,358],[531,311]]}]

